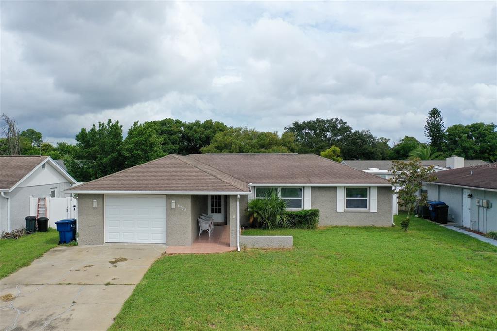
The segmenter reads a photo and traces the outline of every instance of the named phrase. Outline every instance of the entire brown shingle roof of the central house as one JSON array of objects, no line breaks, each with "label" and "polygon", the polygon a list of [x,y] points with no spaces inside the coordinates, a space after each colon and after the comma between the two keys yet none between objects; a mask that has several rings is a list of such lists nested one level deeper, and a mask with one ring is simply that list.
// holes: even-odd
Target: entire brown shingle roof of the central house
[{"label": "entire brown shingle roof of the central house", "polygon": [[249,183],[390,185],[314,154],[171,154],[68,190],[248,192]]}]

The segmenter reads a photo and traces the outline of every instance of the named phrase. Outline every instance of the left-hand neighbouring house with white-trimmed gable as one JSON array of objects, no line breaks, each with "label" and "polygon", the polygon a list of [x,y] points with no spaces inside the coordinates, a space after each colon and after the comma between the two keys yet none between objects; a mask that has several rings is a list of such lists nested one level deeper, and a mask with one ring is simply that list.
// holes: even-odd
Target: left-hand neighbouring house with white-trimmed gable
[{"label": "left-hand neighbouring house with white-trimmed gable", "polygon": [[65,197],[64,190],[78,184],[48,156],[0,157],[0,232],[25,226],[30,197]]}]

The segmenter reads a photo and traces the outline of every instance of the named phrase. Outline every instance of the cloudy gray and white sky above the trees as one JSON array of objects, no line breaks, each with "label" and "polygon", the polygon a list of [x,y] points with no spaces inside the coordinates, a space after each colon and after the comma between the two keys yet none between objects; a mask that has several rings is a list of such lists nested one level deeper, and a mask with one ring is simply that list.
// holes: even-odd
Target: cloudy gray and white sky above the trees
[{"label": "cloudy gray and white sky above the trees", "polygon": [[45,140],[167,117],[393,141],[497,122],[491,2],[1,1],[1,110]]}]

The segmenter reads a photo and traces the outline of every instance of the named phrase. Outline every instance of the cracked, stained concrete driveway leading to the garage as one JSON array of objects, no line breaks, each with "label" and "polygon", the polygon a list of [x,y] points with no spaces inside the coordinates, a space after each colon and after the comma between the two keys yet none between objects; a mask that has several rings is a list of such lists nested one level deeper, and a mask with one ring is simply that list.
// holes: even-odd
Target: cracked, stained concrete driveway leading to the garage
[{"label": "cracked, stained concrete driveway leading to the garage", "polygon": [[164,245],[53,248],[1,280],[0,329],[106,330],[165,250]]}]

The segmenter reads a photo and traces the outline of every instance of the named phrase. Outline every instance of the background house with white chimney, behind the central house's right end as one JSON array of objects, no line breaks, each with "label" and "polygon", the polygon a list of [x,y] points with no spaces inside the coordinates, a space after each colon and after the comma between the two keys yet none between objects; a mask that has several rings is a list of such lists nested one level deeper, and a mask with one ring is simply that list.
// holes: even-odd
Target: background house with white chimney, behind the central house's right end
[{"label": "background house with white chimney, behind the central house's right end", "polygon": [[[405,162],[409,160],[404,160]],[[392,161],[391,160],[344,160],[342,164],[362,170],[382,178],[392,178]],[[421,165],[433,165],[435,172],[448,169],[457,169],[467,166],[487,165],[483,160],[464,160],[464,158],[451,157],[445,160],[421,160]]]}]

